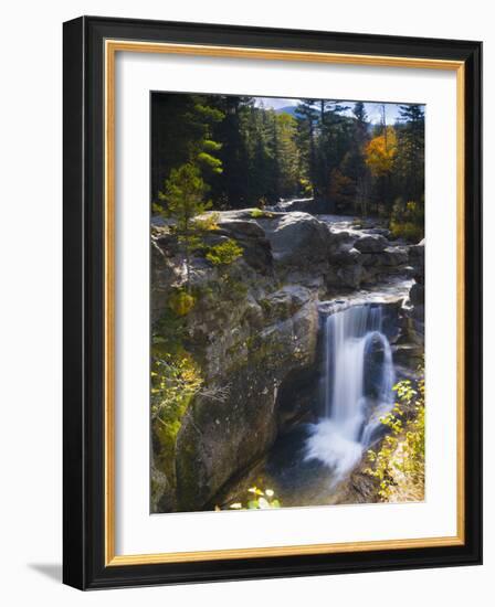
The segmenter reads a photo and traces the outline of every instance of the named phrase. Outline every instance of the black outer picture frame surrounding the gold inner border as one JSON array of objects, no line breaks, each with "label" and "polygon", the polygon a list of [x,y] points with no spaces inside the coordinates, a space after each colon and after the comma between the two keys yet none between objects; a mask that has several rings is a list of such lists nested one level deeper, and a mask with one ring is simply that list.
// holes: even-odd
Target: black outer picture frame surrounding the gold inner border
[{"label": "black outer picture frame surrounding the gold inner border", "polygon": [[[64,561],[80,589],[482,562],[482,43],[82,17],[64,23]],[[465,65],[463,545],[105,565],[104,42],[134,40],[452,60]]]}]

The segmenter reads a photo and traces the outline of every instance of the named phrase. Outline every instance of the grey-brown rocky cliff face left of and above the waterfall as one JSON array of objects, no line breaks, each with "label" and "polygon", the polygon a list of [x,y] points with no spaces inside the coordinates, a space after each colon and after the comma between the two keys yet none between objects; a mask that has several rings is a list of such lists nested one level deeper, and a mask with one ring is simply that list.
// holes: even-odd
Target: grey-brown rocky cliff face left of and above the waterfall
[{"label": "grey-brown rocky cliff face left of and above the waterfall", "polygon": [[[243,254],[224,268],[199,254],[192,260],[190,281],[200,295],[187,315],[186,339],[204,384],[180,420],[176,478],[168,479],[159,466],[152,470],[155,511],[204,507],[266,452],[282,423],[310,406],[294,406],[283,416],[278,411],[281,388],[310,374],[315,364],[319,299],[414,276],[411,301],[422,305],[424,247],[391,243],[388,236],[372,226],[336,228],[303,212],[220,213],[208,244],[233,239]],[[157,321],[186,277],[177,243],[159,222],[151,252]],[[419,309],[412,316],[417,329],[421,318]]]}]

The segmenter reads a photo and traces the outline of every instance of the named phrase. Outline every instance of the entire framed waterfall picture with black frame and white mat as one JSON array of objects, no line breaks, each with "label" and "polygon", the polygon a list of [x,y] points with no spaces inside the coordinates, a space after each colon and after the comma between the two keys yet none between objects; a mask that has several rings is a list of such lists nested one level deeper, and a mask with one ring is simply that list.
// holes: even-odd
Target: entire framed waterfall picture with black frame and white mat
[{"label": "entire framed waterfall picture with black frame and white mat", "polygon": [[64,24],[64,582],[481,563],[480,42]]}]

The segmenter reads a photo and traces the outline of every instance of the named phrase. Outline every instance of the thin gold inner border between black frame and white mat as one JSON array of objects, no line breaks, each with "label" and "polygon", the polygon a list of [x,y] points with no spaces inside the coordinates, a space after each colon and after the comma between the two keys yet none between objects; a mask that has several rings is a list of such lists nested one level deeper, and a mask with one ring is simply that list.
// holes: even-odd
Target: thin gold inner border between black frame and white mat
[{"label": "thin gold inner border between black frame and white mat", "polygon": [[[465,543],[464,530],[464,223],[465,223],[465,66],[461,61],[446,61],[421,57],[397,57],[382,55],[359,55],[322,53],[308,51],[284,51],[277,49],[250,49],[236,46],[217,46],[199,44],[175,44],[157,42],[137,42],[127,40],[105,41],[105,382],[104,382],[104,440],[105,440],[105,566],[146,565],[158,563],[185,563],[218,561],[230,558],[256,558],[270,556],[289,556],[304,554],[335,554],[367,552],[379,550],[419,549],[433,546],[454,546]],[[270,546],[233,550],[212,550],[199,552],[164,552],[154,554],[115,554],[115,58],[117,52],[168,53],[230,58],[256,58],[270,61],[317,62],[346,65],[382,67],[404,67],[422,70],[449,70],[456,72],[456,329],[457,329],[457,386],[456,386],[456,464],[457,464],[457,532],[454,536],[420,537],[387,541],[364,541],[331,544],[308,544],[293,546]]]}]

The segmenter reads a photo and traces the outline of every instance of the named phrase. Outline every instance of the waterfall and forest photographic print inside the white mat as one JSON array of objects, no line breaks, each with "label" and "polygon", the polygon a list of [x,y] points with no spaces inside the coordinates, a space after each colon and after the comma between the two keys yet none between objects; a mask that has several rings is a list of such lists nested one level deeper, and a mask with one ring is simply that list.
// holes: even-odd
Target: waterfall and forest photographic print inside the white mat
[{"label": "waterfall and forest photographic print inside the white mat", "polygon": [[424,114],[151,93],[151,512],[424,500]]}]

